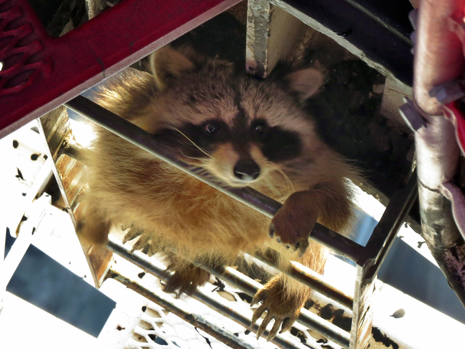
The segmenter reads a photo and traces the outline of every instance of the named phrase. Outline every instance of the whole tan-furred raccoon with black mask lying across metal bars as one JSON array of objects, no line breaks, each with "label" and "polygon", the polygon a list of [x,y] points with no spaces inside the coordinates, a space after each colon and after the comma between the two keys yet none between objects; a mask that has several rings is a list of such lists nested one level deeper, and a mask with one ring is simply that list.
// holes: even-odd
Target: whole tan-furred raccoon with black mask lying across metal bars
[{"label": "whole tan-furred raccoon with black mask lying across metal bars", "polygon": [[[233,187],[255,188],[283,203],[273,219],[187,175],[152,154],[97,129],[86,154],[89,189],[80,235],[104,243],[112,224],[129,226],[134,249],[162,251],[173,277],[166,290],[190,292],[209,279],[191,262],[232,263],[238,254],[272,248],[279,263],[296,260],[322,274],[327,249],[308,236],[315,222],[350,231],[347,178],[357,172],[318,137],[303,102],[323,75],[312,68],[265,81],[230,62],[188,47],[150,56],[152,74],[126,68],[93,100],[158,137],[193,168]],[[268,340],[291,328],[311,290],[275,275],[253,297],[257,333],[274,319]],[[281,333],[280,332],[280,333]]]}]

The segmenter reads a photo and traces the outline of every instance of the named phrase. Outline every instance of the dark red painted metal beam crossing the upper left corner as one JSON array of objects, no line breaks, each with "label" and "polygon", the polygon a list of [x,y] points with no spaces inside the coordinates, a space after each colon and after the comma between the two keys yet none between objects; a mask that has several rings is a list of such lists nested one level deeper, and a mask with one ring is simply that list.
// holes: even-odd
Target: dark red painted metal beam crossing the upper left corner
[{"label": "dark red painted metal beam crossing the upper left corner", "polygon": [[52,38],[27,0],[0,0],[0,138],[239,0],[123,0]]}]

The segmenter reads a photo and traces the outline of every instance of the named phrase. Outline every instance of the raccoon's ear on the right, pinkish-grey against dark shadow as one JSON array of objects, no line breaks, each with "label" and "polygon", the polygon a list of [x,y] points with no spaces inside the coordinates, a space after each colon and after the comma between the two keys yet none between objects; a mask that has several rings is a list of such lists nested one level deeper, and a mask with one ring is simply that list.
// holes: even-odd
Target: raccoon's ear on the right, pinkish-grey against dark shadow
[{"label": "raccoon's ear on the right, pinkish-grey against dark shadow", "polygon": [[323,74],[313,68],[287,74],[286,79],[289,81],[292,91],[299,93],[301,101],[305,101],[316,94],[324,82]]}]

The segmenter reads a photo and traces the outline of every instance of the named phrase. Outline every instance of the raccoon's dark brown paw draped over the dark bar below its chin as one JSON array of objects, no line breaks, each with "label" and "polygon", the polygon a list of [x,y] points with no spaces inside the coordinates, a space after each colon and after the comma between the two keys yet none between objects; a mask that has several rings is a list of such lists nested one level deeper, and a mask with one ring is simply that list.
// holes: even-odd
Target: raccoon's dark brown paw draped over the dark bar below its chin
[{"label": "raccoon's dark brown paw draped over the dark bar below its chin", "polygon": [[312,207],[308,191],[293,193],[284,202],[271,221],[268,235],[287,248],[299,250],[301,257],[308,248],[308,237],[318,218],[317,208]]}]

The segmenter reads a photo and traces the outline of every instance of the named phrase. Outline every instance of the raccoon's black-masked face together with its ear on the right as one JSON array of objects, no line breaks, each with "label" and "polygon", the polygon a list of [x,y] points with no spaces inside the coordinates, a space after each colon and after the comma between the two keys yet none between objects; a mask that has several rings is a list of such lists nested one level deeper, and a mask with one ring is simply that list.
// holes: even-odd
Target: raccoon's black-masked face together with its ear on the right
[{"label": "raccoon's black-masked face together with its ear on the right", "polygon": [[234,74],[220,60],[193,66],[164,84],[156,112],[163,121],[152,130],[181,160],[241,187],[312,148],[313,124],[296,96],[318,91],[318,71],[292,73],[283,83]]}]

